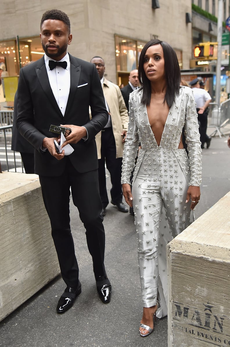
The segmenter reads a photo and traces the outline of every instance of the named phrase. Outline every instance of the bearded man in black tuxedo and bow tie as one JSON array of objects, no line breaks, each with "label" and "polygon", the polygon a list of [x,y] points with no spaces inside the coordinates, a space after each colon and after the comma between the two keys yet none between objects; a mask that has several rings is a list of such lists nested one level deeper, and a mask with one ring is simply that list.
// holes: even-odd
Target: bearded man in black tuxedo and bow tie
[{"label": "bearded man in black tuxedo and bow tie", "polygon": [[[57,305],[57,312],[63,313],[81,293],[70,229],[70,187],[86,228],[99,297],[104,303],[110,301],[95,143],[95,135],[108,121],[108,112],[95,65],[67,53],[72,41],[68,16],[59,10],[46,11],[40,37],[44,57],[20,70],[17,127],[35,149],[35,173],[39,175],[62,278],[67,285]],[[57,137],[49,132],[51,124],[71,129],[62,148],[69,143],[74,149],[72,154],[56,152]]]}]

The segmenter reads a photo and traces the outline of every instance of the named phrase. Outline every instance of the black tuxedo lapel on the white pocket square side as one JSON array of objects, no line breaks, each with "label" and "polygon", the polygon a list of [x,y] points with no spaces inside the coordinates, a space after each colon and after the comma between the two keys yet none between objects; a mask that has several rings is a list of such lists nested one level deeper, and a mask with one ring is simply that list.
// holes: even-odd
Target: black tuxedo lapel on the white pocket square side
[{"label": "black tuxedo lapel on the white pocket square side", "polygon": [[81,66],[77,63],[76,59],[70,56],[70,92],[65,109],[65,115],[68,115],[68,113],[70,113],[71,105],[78,89],[80,74]]}]

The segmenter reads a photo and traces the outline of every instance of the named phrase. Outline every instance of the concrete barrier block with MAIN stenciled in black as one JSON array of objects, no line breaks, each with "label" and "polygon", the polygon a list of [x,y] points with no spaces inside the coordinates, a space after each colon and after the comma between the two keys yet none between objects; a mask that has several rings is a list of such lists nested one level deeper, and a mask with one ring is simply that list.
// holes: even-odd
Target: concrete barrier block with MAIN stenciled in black
[{"label": "concrete barrier block with MAIN stenciled in black", "polygon": [[167,245],[168,346],[230,346],[230,192]]}]

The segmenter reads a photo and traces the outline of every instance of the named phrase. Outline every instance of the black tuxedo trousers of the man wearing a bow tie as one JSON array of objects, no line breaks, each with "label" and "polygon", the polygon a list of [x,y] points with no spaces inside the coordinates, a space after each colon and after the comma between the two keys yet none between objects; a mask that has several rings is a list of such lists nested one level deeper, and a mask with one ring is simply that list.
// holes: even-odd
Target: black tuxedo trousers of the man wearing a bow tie
[{"label": "black tuxedo trousers of the man wearing a bow tie", "polygon": [[[86,239],[92,256],[95,276],[105,274],[105,231],[100,212],[102,209],[98,171],[79,173],[69,158],[64,172],[58,177],[39,175],[46,211],[50,218],[52,238],[56,248],[62,278],[69,287],[78,285],[78,262],[70,228],[70,187],[73,204],[86,228]],[[87,197],[87,198],[86,198]]]}]

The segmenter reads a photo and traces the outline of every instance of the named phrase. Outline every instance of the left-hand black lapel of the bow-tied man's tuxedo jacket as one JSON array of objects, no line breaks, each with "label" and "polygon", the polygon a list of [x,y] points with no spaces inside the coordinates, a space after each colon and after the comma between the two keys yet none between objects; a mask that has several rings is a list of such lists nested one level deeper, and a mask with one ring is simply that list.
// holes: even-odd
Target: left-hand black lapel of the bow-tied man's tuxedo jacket
[{"label": "left-hand black lapel of the bow-tied man's tuxedo jacket", "polygon": [[45,67],[45,62],[44,62],[44,65],[35,68],[35,70],[36,70],[37,78],[42,86],[44,93],[46,94],[50,103],[53,105],[54,110],[63,119],[62,113],[60,111],[60,108],[58,107],[58,104],[56,102],[56,99],[54,98],[54,95],[50,86],[50,82],[49,82],[46,67]]}]

